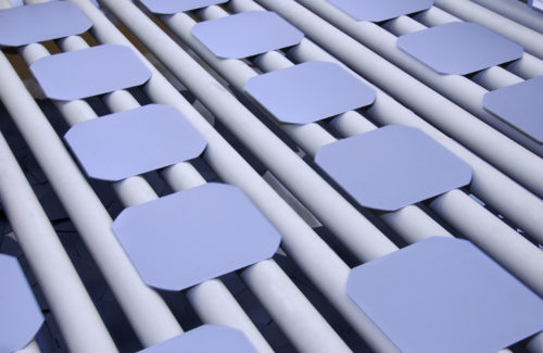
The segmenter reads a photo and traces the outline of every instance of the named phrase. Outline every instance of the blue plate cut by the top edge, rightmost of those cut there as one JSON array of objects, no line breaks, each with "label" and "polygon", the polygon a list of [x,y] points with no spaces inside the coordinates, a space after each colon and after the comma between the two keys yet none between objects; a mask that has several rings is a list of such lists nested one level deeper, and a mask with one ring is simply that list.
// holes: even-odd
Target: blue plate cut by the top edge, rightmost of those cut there
[{"label": "blue plate cut by the top edge, rightmost of those cut there", "polygon": [[327,0],[356,21],[381,22],[428,10],[433,0]]}]

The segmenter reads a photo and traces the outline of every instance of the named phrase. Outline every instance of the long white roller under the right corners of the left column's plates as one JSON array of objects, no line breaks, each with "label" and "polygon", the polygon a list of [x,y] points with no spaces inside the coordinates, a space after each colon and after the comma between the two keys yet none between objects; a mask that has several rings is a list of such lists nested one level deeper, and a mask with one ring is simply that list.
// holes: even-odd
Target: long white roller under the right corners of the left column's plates
[{"label": "long white roller under the right corners of the left column's plates", "polygon": [[[101,42],[131,46],[130,42],[87,0],[76,3],[94,26],[92,33]],[[113,3],[113,2],[112,2]],[[118,9],[122,13],[122,8]],[[163,40],[157,37],[156,39]],[[213,127],[182,98],[149,62],[140,55],[153,76],[143,87],[156,103],[171,104],[207,140],[203,157],[226,182],[241,188],[282,234],[282,247],[334,307],[376,351],[395,352],[395,346],[345,294],[349,267],[306,223],[280,199]]]}]

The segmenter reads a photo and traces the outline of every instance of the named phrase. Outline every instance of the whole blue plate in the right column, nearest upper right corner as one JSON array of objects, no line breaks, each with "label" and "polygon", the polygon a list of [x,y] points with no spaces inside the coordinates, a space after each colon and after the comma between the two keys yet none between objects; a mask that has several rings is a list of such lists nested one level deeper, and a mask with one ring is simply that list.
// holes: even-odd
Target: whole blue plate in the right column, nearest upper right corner
[{"label": "whole blue plate in the right column, nearest upper right corner", "polygon": [[396,45],[441,74],[471,74],[520,59],[523,53],[516,42],[469,22],[452,22],[404,35]]}]

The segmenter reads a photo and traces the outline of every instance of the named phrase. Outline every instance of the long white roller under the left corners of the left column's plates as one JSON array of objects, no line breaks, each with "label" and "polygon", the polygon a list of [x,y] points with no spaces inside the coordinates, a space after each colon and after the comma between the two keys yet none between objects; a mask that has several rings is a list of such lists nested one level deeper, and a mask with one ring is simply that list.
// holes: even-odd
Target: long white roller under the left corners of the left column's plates
[{"label": "long white roller under the left corners of the left column's plates", "polygon": [[144,345],[181,332],[162,299],[142,281],[87,184],[34,98],[0,55],[0,97]]}]

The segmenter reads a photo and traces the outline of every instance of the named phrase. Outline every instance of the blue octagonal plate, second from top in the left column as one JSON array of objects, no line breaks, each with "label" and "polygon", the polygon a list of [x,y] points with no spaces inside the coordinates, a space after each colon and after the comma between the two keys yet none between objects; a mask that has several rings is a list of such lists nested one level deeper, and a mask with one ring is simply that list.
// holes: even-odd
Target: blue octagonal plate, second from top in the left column
[{"label": "blue octagonal plate, second from top in the left column", "polygon": [[143,85],[151,78],[130,48],[116,45],[46,56],[30,71],[48,98],[67,101]]}]

